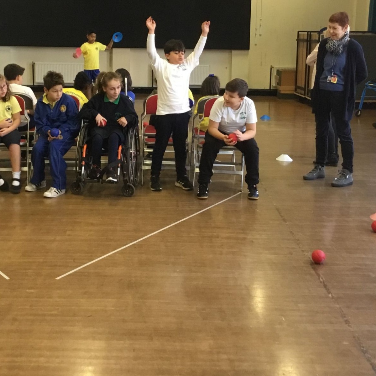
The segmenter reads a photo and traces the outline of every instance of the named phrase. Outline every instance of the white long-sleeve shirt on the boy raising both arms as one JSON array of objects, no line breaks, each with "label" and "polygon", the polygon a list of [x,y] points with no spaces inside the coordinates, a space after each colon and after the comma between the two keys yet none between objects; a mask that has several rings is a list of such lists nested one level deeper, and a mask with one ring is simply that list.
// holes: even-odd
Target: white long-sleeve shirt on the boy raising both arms
[{"label": "white long-sleeve shirt on the boy raising both arms", "polygon": [[182,114],[190,111],[188,88],[191,72],[199,65],[206,36],[200,36],[193,52],[182,64],[170,64],[159,57],[155,48],[155,34],[147,35],[146,50],[158,83],[157,115]]}]

